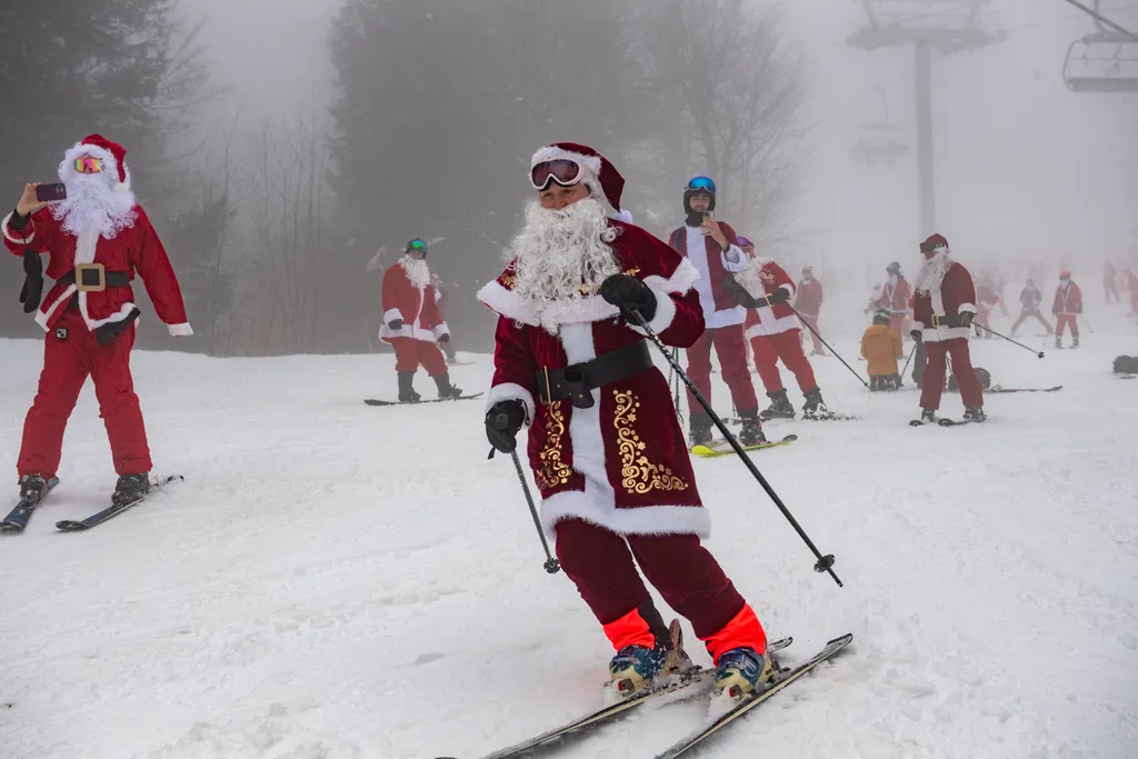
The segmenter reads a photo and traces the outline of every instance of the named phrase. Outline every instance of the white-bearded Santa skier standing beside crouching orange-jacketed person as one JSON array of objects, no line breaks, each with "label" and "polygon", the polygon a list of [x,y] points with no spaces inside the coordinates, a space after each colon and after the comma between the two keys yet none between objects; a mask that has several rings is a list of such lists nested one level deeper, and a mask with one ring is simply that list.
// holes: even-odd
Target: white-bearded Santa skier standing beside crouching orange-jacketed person
[{"label": "white-bearded Santa skier standing beside crouching orange-jacketed person", "polygon": [[[913,297],[910,337],[925,346],[929,364],[921,383],[921,421],[935,421],[940,396],[945,390],[948,356],[953,357],[953,373],[960,386],[964,416],[981,422],[984,416],[983,390],[968,354],[968,335],[976,314],[976,291],[962,264],[953,261],[948,240],[932,234],[921,244],[925,261],[917,272],[917,288]],[[917,328],[920,325],[920,329]]]}]

